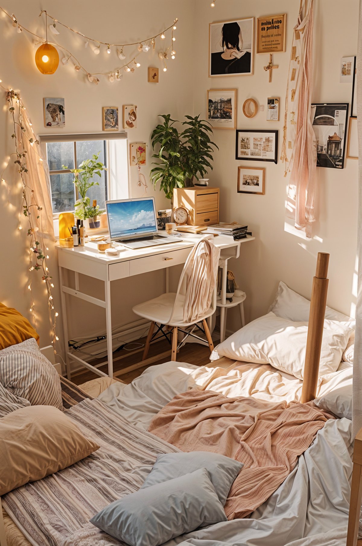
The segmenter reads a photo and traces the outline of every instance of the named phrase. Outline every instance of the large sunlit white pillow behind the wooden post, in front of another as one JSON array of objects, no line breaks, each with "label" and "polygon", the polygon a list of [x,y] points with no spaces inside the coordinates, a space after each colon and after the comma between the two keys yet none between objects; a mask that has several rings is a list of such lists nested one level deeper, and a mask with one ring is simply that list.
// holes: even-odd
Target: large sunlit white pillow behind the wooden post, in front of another
[{"label": "large sunlit white pillow behind the wooden post, in front of another", "polygon": [[[270,312],[220,343],[210,359],[222,355],[244,362],[269,363],[303,379],[307,331],[307,323],[288,321]],[[351,328],[345,324],[324,321],[319,376],[337,370],[350,334]]]}]

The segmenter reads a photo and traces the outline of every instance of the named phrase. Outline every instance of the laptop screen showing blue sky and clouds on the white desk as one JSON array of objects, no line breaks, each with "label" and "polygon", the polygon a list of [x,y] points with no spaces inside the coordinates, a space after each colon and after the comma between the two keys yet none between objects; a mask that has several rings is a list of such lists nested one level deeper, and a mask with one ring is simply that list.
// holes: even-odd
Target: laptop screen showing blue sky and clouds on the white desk
[{"label": "laptop screen showing blue sky and clouds on the white desk", "polygon": [[106,203],[111,239],[157,233],[154,199],[130,199]]}]

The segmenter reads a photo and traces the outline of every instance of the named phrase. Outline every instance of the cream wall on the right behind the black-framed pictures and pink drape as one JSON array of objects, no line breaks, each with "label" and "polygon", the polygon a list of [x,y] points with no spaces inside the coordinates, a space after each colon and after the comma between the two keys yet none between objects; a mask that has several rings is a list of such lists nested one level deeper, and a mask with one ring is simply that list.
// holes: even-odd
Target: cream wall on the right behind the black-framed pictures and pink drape
[{"label": "cream wall on the right behind the black-framed pictures and pink drape", "polygon": [[[347,5],[347,4],[346,4]],[[339,63],[343,56],[357,53],[358,32],[357,0],[341,8],[337,0],[315,0],[313,102],[351,103],[352,84],[339,83]],[[226,0],[208,9],[207,3],[197,2],[194,49],[197,51],[195,70],[195,114],[206,115],[207,89],[238,89],[239,129],[279,129],[279,157],[282,140],[283,110],[288,78],[289,56],[293,27],[297,22],[299,0]],[[232,20],[238,17],[260,17],[287,13],[287,51],[274,54],[271,84],[263,70],[267,55],[255,55],[254,76],[208,78],[208,23]],[[337,33],[336,33],[337,29]],[[267,97],[281,98],[280,122],[267,122],[266,111],[248,119],[242,106],[252,97],[266,105]],[[210,182],[220,186],[221,221],[242,221],[249,224],[257,240],[242,244],[240,259],[230,263],[245,290],[246,319],[250,321],[265,313],[273,301],[277,284],[285,281],[304,296],[310,296],[312,276],[315,273],[319,251],[330,252],[328,305],[346,314],[353,313],[355,304],[354,268],[357,238],[357,161],[346,160],[343,171],[317,168],[316,216],[313,240],[286,233],[284,229],[287,179],[284,165],[235,160],[235,132],[214,131],[214,140],[220,148],[215,154]],[[266,167],[266,194],[237,193],[239,165]],[[228,329],[239,328],[238,313],[230,313]]]}]

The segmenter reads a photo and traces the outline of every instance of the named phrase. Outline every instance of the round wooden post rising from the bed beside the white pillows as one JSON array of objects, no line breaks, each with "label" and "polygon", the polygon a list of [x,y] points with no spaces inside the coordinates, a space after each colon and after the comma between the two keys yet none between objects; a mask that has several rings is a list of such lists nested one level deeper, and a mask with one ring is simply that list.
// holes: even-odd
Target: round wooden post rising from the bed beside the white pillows
[{"label": "round wooden post rising from the bed beside the white pillows", "polygon": [[314,400],[317,392],[325,304],[327,303],[328,263],[329,254],[326,252],[318,252],[316,276],[313,277],[312,296],[310,301],[301,403]]}]

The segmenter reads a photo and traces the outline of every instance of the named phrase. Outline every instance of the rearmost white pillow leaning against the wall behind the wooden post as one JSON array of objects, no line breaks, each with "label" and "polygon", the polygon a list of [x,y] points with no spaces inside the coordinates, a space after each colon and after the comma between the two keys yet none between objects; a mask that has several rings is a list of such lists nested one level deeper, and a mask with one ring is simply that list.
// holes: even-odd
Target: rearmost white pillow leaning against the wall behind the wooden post
[{"label": "rearmost white pillow leaning against the wall behind the wooden post", "polygon": [[[275,299],[269,307],[268,313],[273,311],[277,317],[287,318],[289,321],[309,321],[310,301],[303,298],[297,292],[287,287],[280,281]],[[351,328],[355,328],[355,319],[347,317],[346,314],[339,313],[330,307],[325,307],[325,316],[329,321],[350,322]]]}]

